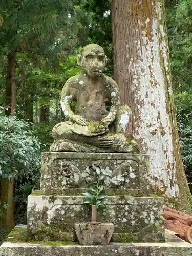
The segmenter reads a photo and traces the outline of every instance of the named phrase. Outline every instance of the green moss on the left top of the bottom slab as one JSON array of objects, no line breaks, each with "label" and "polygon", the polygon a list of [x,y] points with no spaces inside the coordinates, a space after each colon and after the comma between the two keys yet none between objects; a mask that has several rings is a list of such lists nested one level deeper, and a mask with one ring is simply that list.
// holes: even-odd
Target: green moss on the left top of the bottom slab
[{"label": "green moss on the left top of the bottom slab", "polygon": [[8,234],[5,239],[6,242],[11,243],[29,243],[29,244],[43,244],[43,245],[51,245],[51,246],[63,246],[74,244],[72,241],[39,241],[39,240],[31,240],[27,236],[26,228],[14,228]]}]

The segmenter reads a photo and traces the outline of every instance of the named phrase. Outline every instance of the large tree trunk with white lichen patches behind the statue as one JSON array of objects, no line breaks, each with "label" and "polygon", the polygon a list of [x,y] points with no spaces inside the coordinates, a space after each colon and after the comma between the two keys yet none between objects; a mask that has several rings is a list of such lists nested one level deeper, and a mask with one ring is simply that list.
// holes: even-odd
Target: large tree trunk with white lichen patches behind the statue
[{"label": "large tree trunk with white lichen patches behind the statue", "polygon": [[170,205],[190,211],[174,112],[162,0],[111,0],[114,74],[132,109],[126,135],[150,154],[149,180]]}]

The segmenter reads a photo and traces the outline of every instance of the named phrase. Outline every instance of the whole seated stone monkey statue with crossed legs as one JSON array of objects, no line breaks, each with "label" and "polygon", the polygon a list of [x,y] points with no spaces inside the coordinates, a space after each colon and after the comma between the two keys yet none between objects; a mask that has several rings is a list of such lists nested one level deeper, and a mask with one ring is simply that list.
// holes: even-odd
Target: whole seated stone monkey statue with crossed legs
[{"label": "whole seated stone monkey statue with crossed legs", "polygon": [[[90,44],[82,49],[78,64],[83,72],[71,77],[61,92],[61,108],[66,117],[54,126],[55,152],[138,153],[136,142],[123,135],[131,109],[120,106],[116,82],[103,74],[106,56],[102,47]],[[133,141],[132,141],[133,142]]]}]

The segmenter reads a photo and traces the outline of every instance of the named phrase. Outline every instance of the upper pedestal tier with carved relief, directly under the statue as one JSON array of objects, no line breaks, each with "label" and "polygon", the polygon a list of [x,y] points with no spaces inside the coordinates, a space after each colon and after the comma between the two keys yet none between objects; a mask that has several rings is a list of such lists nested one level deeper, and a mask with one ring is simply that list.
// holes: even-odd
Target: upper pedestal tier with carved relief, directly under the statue
[{"label": "upper pedestal tier with carved relief, directly under the statue", "polygon": [[148,155],[123,153],[43,152],[41,190],[45,194],[79,194],[79,188],[97,180],[96,166],[110,175],[104,181],[106,192],[149,194]]}]

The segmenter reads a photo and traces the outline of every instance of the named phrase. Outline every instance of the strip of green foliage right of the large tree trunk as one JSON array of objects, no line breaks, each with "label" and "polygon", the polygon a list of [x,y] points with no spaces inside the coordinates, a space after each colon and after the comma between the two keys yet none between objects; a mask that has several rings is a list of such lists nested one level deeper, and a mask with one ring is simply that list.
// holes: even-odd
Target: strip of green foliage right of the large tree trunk
[{"label": "strip of green foliage right of the large tree trunk", "polygon": [[[166,8],[170,61],[181,153],[189,183],[192,178],[192,1],[169,1]],[[191,189],[192,191],[192,189]]]}]

